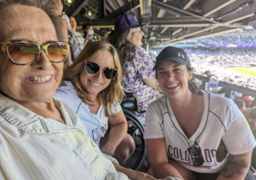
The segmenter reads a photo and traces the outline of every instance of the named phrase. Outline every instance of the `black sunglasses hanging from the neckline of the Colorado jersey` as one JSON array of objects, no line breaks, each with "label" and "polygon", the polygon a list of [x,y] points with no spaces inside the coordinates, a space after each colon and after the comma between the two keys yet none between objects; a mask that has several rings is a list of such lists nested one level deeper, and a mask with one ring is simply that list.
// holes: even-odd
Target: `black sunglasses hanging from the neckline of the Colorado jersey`
[{"label": "black sunglasses hanging from the neckline of the Colorado jersey", "polygon": [[201,166],[204,163],[201,148],[196,141],[191,147],[188,148],[188,151],[192,157],[194,157],[193,166]]}]

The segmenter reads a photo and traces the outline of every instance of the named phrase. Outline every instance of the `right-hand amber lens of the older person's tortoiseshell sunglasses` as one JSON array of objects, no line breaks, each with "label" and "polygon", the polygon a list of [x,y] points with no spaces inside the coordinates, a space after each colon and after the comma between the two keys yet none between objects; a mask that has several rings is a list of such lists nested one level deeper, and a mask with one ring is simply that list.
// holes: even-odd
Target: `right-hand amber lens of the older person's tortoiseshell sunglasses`
[{"label": "right-hand amber lens of the older person's tortoiseshell sunglasses", "polygon": [[48,46],[47,52],[51,61],[60,62],[67,58],[68,48],[67,45],[56,42]]}]

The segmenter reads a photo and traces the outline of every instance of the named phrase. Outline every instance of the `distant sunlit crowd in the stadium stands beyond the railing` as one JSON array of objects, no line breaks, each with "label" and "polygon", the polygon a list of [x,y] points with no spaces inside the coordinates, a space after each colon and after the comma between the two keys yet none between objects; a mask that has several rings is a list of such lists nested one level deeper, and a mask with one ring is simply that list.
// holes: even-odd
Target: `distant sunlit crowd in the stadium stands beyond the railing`
[{"label": "distant sunlit crowd in the stadium stands beyond the railing", "polygon": [[[194,73],[203,75],[211,71],[218,80],[242,87],[256,89],[256,77],[237,72],[234,68],[249,68],[255,64],[256,52],[252,48],[187,48],[194,67]],[[160,50],[150,50],[152,60],[155,61]],[[252,71],[255,71],[252,69]]]}]

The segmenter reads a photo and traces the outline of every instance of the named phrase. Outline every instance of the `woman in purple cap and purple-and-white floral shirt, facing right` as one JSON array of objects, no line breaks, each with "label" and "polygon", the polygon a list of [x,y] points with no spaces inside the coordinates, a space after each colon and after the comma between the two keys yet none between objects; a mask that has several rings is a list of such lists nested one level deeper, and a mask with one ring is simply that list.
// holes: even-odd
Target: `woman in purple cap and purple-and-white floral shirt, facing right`
[{"label": "woman in purple cap and purple-and-white floral shirt, facing right", "polygon": [[[138,20],[131,14],[125,14],[115,21],[115,31],[107,41],[119,52],[122,65],[122,88],[125,92],[134,93],[138,98],[139,111],[146,111],[147,106],[159,97],[154,63],[141,47],[142,36]],[[145,113],[136,115],[144,117]]]}]

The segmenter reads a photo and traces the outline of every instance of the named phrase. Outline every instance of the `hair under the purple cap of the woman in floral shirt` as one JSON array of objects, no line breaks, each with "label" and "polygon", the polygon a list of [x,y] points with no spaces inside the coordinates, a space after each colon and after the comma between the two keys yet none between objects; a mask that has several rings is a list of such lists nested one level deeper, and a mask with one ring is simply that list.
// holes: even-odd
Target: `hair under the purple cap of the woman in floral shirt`
[{"label": "hair under the purple cap of the woman in floral shirt", "polygon": [[114,45],[115,49],[120,50],[125,44],[132,44],[131,41],[131,29],[126,29],[115,33],[114,31],[107,37],[107,42]]}]

